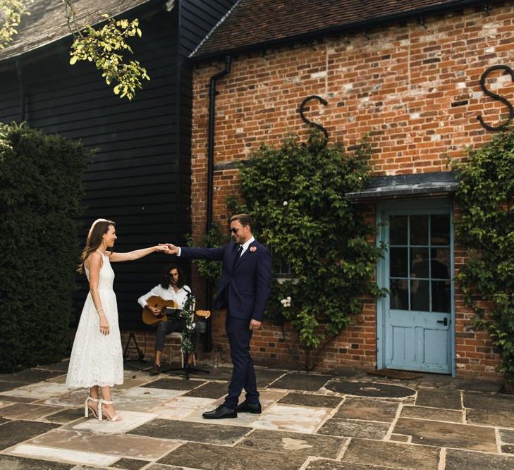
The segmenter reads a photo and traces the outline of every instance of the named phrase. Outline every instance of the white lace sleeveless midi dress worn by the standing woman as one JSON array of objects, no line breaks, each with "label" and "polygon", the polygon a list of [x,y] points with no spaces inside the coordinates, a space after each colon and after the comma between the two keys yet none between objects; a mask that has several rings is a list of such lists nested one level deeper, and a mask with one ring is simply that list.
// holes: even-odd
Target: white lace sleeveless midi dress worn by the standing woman
[{"label": "white lace sleeveless midi dress worn by the standing woman", "polygon": [[[102,254],[102,253],[100,253]],[[118,326],[118,305],[113,290],[114,271],[109,256],[102,254],[98,292],[109,321],[109,335],[100,333],[100,319],[91,292],[80,314],[73,341],[66,385],[70,388],[105,387],[123,383],[123,352]],[[85,268],[87,280],[90,273]]]}]

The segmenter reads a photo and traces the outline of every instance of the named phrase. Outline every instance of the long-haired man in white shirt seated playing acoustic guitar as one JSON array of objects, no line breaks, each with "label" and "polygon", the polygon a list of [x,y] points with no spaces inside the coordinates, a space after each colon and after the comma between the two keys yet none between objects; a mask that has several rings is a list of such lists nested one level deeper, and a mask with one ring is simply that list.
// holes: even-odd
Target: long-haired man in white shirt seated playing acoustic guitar
[{"label": "long-haired man in white shirt seated playing acoustic guitar", "polygon": [[[162,271],[161,283],[156,285],[152,290],[150,290],[150,292],[142,295],[137,299],[137,302],[139,302],[141,307],[145,308],[147,307],[147,299],[153,295],[157,295],[163,300],[173,300],[176,302],[179,309],[183,308],[188,295],[191,295],[191,290],[187,285],[184,285],[184,273],[182,268],[174,263],[166,266],[164,271]],[[160,314],[159,309],[156,307],[148,306],[148,308],[155,316]],[[181,333],[184,328],[184,319],[169,318],[168,321],[159,321],[157,333],[155,335],[155,364],[152,366],[152,370],[150,371],[151,376],[155,376],[161,372],[161,356],[162,351],[164,350],[164,340],[166,335],[173,333],[174,331]],[[195,332],[192,334],[192,345],[194,350],[197,348],[199,339],[200,325],[195,323]],[[190,361],[192,361],[192,354],[188,357],[188,362]]]}]

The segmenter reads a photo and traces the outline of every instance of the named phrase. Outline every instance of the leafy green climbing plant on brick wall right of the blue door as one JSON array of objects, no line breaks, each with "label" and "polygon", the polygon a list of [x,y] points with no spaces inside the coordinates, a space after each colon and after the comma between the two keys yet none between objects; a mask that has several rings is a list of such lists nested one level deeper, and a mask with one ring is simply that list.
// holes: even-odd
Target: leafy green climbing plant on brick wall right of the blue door
[{"label": "leafy green climbing plant on brick wall right of the blue door", "polygon": [[453,165],[462,209],[455,234],[468,256],[456,278],[475,327],[489,331],[514,382],[514,131],[467,149],[467,157]]}]

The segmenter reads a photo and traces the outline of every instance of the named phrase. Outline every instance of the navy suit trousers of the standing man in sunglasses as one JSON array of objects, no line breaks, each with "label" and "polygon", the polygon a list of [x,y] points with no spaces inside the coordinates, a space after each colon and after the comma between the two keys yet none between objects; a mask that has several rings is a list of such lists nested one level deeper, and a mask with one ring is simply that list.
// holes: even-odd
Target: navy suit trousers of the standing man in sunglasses
[{"label": "navy suit trousers of the standing man in sunglasses", "polygon": [[249,326],[250,320],[235,319],[227,309],[225,329],[228,344],[231,347],[233,370],[231,383],[228,385],[228,395],[225,397],[225,406],[231,409],[238,406],[239,395],[243,388],[246,391],[248,403],[259,402],[255,369],[250,357],[250,340],[253,332]]}]

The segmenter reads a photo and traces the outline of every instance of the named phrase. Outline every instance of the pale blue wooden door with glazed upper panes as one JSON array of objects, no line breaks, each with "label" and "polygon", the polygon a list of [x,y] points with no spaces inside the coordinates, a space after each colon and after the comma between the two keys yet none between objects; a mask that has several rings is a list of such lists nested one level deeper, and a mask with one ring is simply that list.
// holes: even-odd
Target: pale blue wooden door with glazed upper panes
[{"label": "pale blue wooden door with glazed upper panes", "polygon": [[453,242],[450,207],[383,211],[386,256],[379,335],[388,369],[451,373]]}]

